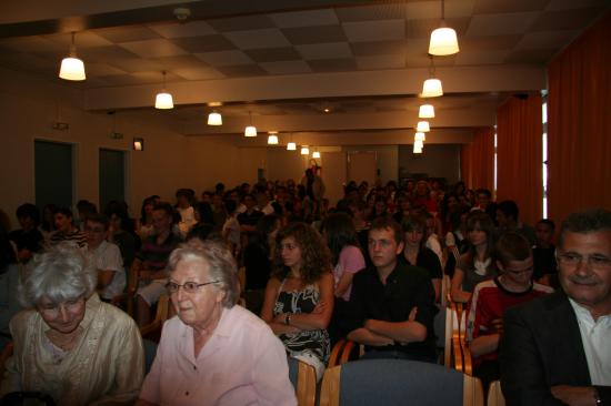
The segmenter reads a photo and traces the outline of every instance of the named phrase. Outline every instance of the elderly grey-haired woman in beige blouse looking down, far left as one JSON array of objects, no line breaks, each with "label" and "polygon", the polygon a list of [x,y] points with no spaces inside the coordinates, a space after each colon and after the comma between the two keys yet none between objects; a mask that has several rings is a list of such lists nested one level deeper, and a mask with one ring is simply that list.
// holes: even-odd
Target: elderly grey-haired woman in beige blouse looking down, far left
[{"label": "elderly grey-haired woman in beige blouse looking down, far left", "polygon": [[98,272],[77,248],[38,256],[19,284],[29,309],[10,323],[14,353],[0,394],[40,392],[58,405],[132,404],[144,375],[136,323],[100,301]]}]

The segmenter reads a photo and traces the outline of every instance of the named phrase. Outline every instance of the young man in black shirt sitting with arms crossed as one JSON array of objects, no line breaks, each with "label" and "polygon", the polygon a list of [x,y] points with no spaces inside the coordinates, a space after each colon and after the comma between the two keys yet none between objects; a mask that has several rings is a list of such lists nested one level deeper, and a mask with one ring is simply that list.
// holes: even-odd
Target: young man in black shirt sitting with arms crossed
[{"label": "young man in black shirt sitting with arms crossed", "polygon": [[348,338],[365,345],[364,358],[434,362],[434,291],[423,270],[398,262],[401,226],[377,219],[368,245],[373,266],[354,275]]}]

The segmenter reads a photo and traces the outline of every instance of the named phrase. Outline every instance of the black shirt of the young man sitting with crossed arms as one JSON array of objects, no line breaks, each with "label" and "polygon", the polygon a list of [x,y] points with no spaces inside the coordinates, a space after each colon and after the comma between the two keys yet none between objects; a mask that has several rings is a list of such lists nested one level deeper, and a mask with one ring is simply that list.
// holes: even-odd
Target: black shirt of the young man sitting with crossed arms
[{"label": "black shirt of the young man sitting with crossed arms", "polygon": [[438,312],[434,305],[434,290],[427,272],[408,266],[398,261],[394,271],[383,285],[375,267],[368,267],[352,280],[347,327],[360,328],[367,319],[391,323],[405,322],[410,312],[418,307],[415,321],[427,327],[427,338],[421,343],[389,345],[385,347],[365,347],[378,351],[400,351],[418,358],[435,357],[433,318]]}]

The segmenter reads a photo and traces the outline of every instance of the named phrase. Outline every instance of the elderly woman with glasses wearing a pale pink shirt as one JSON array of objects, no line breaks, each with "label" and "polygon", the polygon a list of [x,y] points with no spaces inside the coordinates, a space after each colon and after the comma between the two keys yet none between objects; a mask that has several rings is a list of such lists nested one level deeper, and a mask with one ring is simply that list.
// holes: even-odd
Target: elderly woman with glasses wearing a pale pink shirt
[{"label": "elderly woman with glasses wearing a pale pink shirt", "polygon": [[236,302],[236,261],[221,242],[172,252],[166,322],[138,405],[297,405],[282,343]]}]

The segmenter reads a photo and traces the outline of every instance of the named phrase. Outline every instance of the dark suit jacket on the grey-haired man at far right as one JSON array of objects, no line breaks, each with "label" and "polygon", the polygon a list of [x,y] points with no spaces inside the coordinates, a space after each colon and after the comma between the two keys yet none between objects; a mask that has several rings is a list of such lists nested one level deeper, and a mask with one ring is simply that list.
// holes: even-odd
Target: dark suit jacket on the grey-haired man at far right
[{"label": "dark suit jacket on the grey-haired man at far right", "polygon": [[[554,385],[592,386],[579,324],[562,292],[504,314],[500,347],[501,387],[508,405],[562,405]],[[597,386],[611,405],[611,386]]]}]

